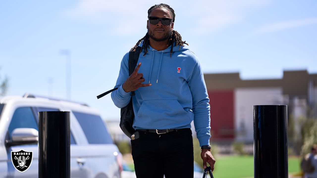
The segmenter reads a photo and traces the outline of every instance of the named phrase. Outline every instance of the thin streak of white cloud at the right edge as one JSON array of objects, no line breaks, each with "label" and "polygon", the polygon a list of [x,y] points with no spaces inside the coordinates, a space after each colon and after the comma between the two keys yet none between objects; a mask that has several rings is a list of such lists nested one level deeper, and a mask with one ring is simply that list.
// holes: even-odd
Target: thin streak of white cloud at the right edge
[{"label": "thin streak of white cloud at the right edge", "polygon": [[306,25],[317,24],[317,18],[308,18],[308,19],[301,19],[301,20],[294,20],[288,22],[278,22],[273,24],[268,24],[262,26],[254,31],[254,34],[264,34],[264,33],[271,33],[276,31],[282,31],[285,29],[292,29]]}]

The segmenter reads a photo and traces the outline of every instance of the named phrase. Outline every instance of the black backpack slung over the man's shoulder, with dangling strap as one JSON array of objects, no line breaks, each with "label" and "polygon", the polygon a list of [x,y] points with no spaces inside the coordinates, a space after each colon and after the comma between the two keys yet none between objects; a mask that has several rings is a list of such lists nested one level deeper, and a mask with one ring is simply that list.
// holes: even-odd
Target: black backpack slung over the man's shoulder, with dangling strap
[{"label": "black backpack slung over the man's shoulder, with dangling strap", "polygon": [[[138,60],[139,60],[139,54],[140,54],[141,47],[137,47],[135,52],[132,51],[132,49],[129,52],[129,76],[133,73]],[[112,90],[109,90],[107,92],[102,93],[101,95],[97,96],[97,99],[100,99],[101,97],[109,94],[110,92],[113,92],[114,90],[117,90],[118,88],[113,88]],[[120,128],[123,131],[126,136],[129,138],[131,135],[135,132],[135,130],[132,127],[133,119],[134,119],[134,111],[133,111],[133,105],[132,105],[132,96],[135,95],[134,91],[131,92],[131,99],[128,105],[121,108],[121,117],[120,117]]]}]

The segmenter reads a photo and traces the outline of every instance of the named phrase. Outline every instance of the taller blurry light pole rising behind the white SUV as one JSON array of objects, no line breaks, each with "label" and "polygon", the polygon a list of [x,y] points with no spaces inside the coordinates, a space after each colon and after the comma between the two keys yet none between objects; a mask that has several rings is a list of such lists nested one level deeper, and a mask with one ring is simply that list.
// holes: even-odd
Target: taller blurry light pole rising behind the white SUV
[{"label": "taller blurry light pole rising behind the white SUV", "polygon": [[68,49],[63,49],[61,55],[66,57],[66,98],[71,100],[71,54]]}]

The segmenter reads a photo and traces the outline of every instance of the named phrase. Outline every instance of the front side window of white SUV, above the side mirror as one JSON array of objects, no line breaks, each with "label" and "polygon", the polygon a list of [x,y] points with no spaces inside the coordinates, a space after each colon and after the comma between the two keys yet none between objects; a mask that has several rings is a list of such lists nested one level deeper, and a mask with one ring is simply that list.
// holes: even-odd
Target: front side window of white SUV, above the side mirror
[{"label": "front side window of white SUV, above the side mirror", "polygon": [[10,139],[12,131],[16,128],[33,128],[38,130],[34,114],[30,107],[19,107],[14,111],[9,125]]}]

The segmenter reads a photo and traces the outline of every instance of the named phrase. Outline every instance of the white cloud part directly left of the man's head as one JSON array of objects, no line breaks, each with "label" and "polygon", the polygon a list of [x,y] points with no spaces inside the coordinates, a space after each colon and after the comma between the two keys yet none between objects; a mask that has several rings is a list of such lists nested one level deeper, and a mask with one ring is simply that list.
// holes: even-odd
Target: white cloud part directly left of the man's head
[{"label": "white cloud part directly left of the man's head", "polygon": [[64,15],[90,23],[105,24],[112,34],[129,35],[146,28],[144,21],[147,20],[147,11],[140,5],[144,3],[129,0],[82,0],[74,8],[65,11]]}]

